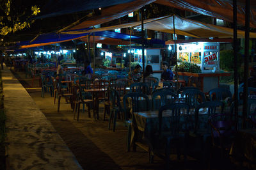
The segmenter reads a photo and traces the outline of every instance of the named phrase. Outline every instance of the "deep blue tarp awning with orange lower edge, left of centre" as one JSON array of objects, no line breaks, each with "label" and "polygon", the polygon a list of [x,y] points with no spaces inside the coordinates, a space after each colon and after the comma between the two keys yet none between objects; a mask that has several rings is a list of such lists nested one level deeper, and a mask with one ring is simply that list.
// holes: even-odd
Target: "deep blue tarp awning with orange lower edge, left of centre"
[{"label": "deep blue tarp awning with orange lower edge, left of centre", "polygon": [[[57,33],[48,33],[44,35],[40,35],[31,41],[26,42],[20,42],[19,45],[21,49],[24,48],[31,48],[31,47],[38,47],[38,46],[44,46],[44,45],[51,45],[54,43],[61,43],[61,42],[68,42],[70,40],[83,40],[83,38],[87,38],[88,35],[92,35],[90,33],[83,33],[83,34],[76,34],[76,35],[70,35],[70,34],[57,34]],[[125,35],[121,33],[115,33],[111,31],[100,31],[95,33],[96,37],[105,37],[105,38],[99,38],[99,42],[112,42],[112,44],[120,43],[120,44],[129,44],[130,35]],[[138,36],[131,36],[132,40],[140,40],[140,37]],[[91,41],[93,41],[93,37],[90,38]],[[126,41],[125,41],[126,40]],[[86,40],[87,41],[87,40]],[[115,44],[115,45],[118,45]]]}]

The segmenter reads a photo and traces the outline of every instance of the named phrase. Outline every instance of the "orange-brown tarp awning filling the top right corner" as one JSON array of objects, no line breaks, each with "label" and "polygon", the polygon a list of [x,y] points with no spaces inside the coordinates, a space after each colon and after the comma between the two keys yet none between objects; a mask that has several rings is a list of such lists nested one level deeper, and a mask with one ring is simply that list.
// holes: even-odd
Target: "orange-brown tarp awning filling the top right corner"
[{"label": "orange-brown tarp awning filling the top right corner", "polygon": [[[157,0],[156,3],[233,22],[232,0]],[[256,27],[256,1],[250,1],[250,10],[250,27]],[[245,0],[237,0],[237,23],[245,25]]]}]

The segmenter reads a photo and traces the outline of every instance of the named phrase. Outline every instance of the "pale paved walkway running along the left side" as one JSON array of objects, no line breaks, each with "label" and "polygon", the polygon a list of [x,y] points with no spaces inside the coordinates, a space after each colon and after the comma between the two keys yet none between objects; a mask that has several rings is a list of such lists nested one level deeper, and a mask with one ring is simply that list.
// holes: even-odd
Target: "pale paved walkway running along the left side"
[{"label": "pale paved walkway running along the left side", "polygon": [[6,66],[7,169],[82,169],[60,135]]}]

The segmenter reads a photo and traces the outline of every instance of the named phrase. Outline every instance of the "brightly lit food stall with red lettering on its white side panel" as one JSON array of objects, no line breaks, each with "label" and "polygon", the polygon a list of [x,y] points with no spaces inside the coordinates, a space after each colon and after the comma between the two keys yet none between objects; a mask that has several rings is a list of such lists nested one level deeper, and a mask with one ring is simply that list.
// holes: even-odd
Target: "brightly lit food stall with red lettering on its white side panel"
[{"label": "brightly lit food stall with red lettering on its white side panel", "polygon": [[[207,93],[220,86],[220,76],[230,76],[229,72],[220,70],[220,42],[217,40],[194,40],[195,42],[177,41],[177,61],[200,66],[198,72],[177,72],[185,80],[193,79],[195,85]],[[226,40],[230,42],[230,40]],[[166,44],[173,44],[168,41]],[[191,84],[189,84],[191,85]]]}]

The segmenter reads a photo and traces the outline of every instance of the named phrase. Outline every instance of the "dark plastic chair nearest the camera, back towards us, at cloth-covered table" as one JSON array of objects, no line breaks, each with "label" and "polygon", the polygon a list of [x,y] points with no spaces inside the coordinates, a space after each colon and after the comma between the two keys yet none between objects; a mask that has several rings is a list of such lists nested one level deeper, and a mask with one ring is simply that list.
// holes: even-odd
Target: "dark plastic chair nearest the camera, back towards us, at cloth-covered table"
[{"label": "dark plastic chair nearest the camera, back towards us, at cloth-covered table", "polygon": [[[163,124],[163,112],[164,111],[170,111],[171,116],[170,119],[168,119],[168,128],[166,127],[166,123]],[[180,144],[184,143],[185,140],[185,133],[187,126],[182,129],[180,128],[180,114],[182,112],[182,115],[186,118],[189,115],[189,105],[184,103],[173,103],[173,104],[166,104],[159,109],[158,114],[158,121],[159,121],[159,129],[157,134],[157,139],[164,139],[166,143],[165,147],[165,157],[164,160],[166,161],[166,167],[169,169],[169,162],[170,162],[170,151],[171,151],[171,142],[177,141],[177,156],[178,159],[180,158]],[[185,119],[186,119],[185,118]],[[186,124],[185,120],[185,124]],[[183,141],[181,139],[183,138]],[[186,152],[185,152],[186,153]],[[149,150],[149,156],[150,156],[150,162],[153,162],[153,153],[152,148]],[[186,157],[186,154],[185,154]]]}]

